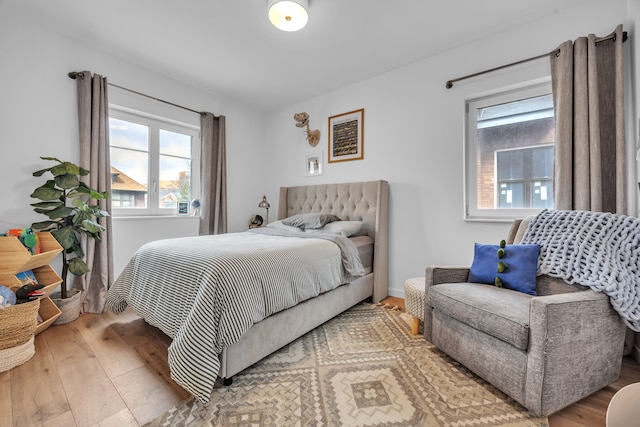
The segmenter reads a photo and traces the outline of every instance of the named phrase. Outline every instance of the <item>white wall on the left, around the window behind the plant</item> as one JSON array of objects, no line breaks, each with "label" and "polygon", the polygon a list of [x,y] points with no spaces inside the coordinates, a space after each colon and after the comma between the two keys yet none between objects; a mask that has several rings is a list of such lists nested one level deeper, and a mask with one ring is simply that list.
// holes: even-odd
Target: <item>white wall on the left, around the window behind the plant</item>
[{"label": "white wall on the left, around the window behind the plant", "polygon": [[[29,206],[29,194],[43,183],[31,173],[50,164],[40,156],[78,161],[76,83],[69,71],[90,70],[108,81],[195,110],[227,118],[227,170],[229,230],[247,227],[258,213],[263,189],[256,181],[264,175],[263,116],[233,100],[204,93],[185,83],[136,67],[116,56],[95,52],[82,42],[30,24],[0,6],[0,232],[44,219]],[[110,88],[111,103],[124,104],[176,120],[199,124],[199,116],[166,104]],[[115,270],[144,241],[176,234],[191,234],[193,224],[172,218],[114,223]],[[120,227],[120,229],[117,229]],[[197,227],[195,228],[197,229]],[[149,231],[149,233],[146,233]],[[137,234],[135,237],[130,238]],[[55,264],[54,264],[55,265]]]}]

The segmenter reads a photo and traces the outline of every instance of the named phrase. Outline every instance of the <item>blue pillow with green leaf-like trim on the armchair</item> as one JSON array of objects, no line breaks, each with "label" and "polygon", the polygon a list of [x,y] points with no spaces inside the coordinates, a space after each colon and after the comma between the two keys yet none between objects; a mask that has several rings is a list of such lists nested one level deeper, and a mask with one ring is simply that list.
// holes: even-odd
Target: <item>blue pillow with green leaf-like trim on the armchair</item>
[{"label": "blue pillow with green leaf-like trim on the armchair", "polygon": [[[469,282],[496,284],[496,277],[502,286],[529,295],[536,294],[536,272],[540,245],[506,245],[504,254],[498,257],[500,245],[476,243],[473,263],[469,271]],[[504,271],[498,272],[502,261]]]}]

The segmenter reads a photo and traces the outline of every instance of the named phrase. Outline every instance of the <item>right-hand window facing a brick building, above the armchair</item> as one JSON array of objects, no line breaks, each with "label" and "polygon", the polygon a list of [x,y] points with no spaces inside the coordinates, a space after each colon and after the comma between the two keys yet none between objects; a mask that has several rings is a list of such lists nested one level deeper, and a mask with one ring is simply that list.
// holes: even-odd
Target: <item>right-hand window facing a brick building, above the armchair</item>
[{"label": "right-hand window facing a brick building, above the armchair", "polygon": [[553,208],[554,143],[548,83],[467,101],[465,218]]}]

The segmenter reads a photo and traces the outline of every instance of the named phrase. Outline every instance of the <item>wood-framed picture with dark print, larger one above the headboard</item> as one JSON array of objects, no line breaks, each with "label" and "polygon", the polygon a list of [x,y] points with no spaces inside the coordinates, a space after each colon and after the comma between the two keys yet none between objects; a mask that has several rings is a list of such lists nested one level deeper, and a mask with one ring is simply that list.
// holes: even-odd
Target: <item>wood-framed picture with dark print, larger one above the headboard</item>
[{"label": "wood-framed picture with dark print, larger one above the headboard", "polygon": [[329,117],[329,163],[364,159],[364,108]]}]

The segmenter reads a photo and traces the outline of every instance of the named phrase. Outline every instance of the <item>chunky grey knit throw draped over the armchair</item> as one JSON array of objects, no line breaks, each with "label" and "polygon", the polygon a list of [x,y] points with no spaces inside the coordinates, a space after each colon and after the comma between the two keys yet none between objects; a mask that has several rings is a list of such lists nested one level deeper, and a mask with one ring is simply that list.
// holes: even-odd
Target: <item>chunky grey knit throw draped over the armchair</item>
[{"label": "chunky grey knit throw draped over the armchair", "polygon": [[522,243],[540,245],[538,275],[604,292],[640,332],[640,219],[606,212],[544,210]]}]

